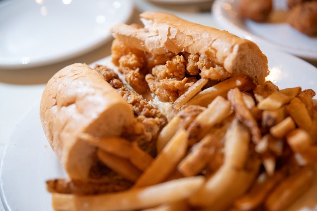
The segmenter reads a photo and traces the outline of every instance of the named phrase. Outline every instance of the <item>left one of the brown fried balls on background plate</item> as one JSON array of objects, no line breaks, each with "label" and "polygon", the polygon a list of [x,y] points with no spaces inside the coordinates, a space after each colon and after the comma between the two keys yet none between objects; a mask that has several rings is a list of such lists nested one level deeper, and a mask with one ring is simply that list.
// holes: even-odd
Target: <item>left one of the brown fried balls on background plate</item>
[{"label": "left one of the brown fried balls on background plate", "polygon": [[264,22],[272,11],[272,0],[242,0],[239,11],[244,18]]}]

